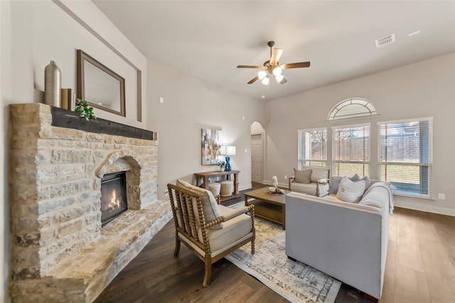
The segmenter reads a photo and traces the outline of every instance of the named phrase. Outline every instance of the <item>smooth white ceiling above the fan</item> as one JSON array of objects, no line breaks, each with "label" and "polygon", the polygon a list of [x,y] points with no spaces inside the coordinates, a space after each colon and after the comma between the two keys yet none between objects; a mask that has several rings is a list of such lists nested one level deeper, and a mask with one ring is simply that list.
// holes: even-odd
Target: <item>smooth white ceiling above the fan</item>
[{"label": "smooth white ceiling above the fan", "polygon": [[[455,1],[93,0],[149,60],[241,94],[276,99],[455,52]],[[420,31],[418,35],[410,33]],[[396,43],[375,40],[395,33]],[[247,84],[284,49],[288,82]]]}]

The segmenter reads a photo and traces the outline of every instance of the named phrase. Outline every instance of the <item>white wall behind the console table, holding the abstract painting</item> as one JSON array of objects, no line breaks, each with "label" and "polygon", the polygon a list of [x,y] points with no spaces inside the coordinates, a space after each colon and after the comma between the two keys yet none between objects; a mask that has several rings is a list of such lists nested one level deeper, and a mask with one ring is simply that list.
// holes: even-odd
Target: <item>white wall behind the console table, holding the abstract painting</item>
[{"label": "white wall behind the console table, holding the abstract painting", "polygon": [[[195,172],[218,169],[216,165],[201,165],[201,128],[221,128],[223,144],[235,145],[232,170],[240,170],[239,189],[250,188],[250,126],[253,121],[264,124],[263,101],[157,62],[149,61],[148,68],[147,121],[149,128],[159,133],[158,198],[164,199],[166,184],[176,179],[194,182]],[[163,104],[159,97],[164,97]]]}]

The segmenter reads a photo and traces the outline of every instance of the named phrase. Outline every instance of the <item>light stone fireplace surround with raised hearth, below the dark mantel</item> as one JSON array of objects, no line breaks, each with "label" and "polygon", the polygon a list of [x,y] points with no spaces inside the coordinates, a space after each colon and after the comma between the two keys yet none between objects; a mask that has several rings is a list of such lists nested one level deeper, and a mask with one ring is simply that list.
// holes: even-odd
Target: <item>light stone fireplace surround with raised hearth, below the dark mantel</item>
[{"label": "light stone fireplace surround with raised hearth, below the dark mantel", "polygon": [[[95,133],[53,119],[45,104],[10,105],[14,302],[92,302],[172,217],[156,199],[154,133]],[[101,227],[101,178],[122,170],[129,209]]]}]

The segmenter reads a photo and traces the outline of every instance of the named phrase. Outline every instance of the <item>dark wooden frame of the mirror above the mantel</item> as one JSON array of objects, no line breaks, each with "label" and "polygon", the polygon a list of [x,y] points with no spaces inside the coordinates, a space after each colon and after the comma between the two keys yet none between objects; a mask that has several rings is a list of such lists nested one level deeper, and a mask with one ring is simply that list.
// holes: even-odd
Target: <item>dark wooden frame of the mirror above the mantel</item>
[{"label": "dark wooden frame of the mirror above the mantel", "polygon": [[[77,98],[86,100],[90,106],[95,107],[97,109],[109,111],[113,114],[117,114],[120,116],[126,116],[126,112],[125,112],[125,79],[123,77],[119,76],[116,72],[110,70],[105,65],[102,65],[100,62],[95,60],[90,55],[87,55],[87,53],[84,53],[82,50],[77,50],[76,57],[77,57],[77,89],[76,89]],[[109,75],[112,78],[117,79],[119,81],[120,111],[117,111],[117,110],[111,109],[107,106],[102,106],[100,104],[92,102],[92,101],[90,101],[90,96],[88,96],[88,97],[85,96],[86,94],[85,94],[84,82],[87,80],[87,77],[86,77],[87,75],[85,75],[85,71],[84,71],[84,62],[89,62],[93,66],[100,69],[102,72],[105,72],[107,75]],[[90,81],[90,79],[89,79],[89,81]]]}]

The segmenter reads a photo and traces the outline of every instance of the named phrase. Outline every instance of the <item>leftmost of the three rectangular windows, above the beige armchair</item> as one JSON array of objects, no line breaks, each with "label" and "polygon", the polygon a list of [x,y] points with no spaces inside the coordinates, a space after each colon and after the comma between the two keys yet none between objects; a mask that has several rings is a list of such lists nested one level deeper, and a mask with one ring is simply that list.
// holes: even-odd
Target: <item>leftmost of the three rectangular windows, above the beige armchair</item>
[{"label": "leftmost of the three rectangular windows, above the beige armchair", "polygon": [[326,166],[327,128],[299,130],[299,169],[301,165]]}]

